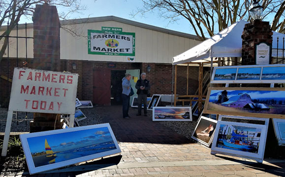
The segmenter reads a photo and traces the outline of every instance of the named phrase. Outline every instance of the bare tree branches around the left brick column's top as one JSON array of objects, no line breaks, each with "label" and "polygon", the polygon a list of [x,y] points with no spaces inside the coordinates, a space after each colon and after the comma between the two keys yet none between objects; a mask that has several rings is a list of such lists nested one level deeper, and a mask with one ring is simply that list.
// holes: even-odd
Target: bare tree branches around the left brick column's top
[{"label": "bare tree branches around the left brick column's top", "polygon": [[[43,3],[64,7],[64,12],[59,13],[61,19],[68,19],[72,13],[80,13],[86,9],[85,6],[80,5],[80,0],[0,0],[0,27],[2,25],[8,26],[1,33],[1,36],[9,35],[24,16],[27,18],[32,17],[35,5]],[[0,49],[0,62],[7,47],[7,38],[0,37],[0,40],[3,38],[4,41]]]}]

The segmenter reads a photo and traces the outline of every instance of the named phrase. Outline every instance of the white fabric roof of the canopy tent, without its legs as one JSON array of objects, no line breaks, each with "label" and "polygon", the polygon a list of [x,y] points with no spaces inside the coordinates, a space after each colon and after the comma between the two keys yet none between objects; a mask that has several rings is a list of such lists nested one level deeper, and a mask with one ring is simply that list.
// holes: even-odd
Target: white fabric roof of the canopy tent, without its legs
[{"label": "white fabric roof of the canopy tent, without its legs", "polygon": [[[242,57],[241,35],[247,23],[249,22],[240,20],[232,24],[188,51],[173,57],[173,64],[209,62],[211,58]],[[277,48],[277,37],[279,37],[279,48],[283,47],[283,37],[285,37],[285,34],[273,31],[272,48]],[[277,57],[276,51],[272,51],[272,57]],[[278,55],[282,57],[282,52],[279,51]]]}]

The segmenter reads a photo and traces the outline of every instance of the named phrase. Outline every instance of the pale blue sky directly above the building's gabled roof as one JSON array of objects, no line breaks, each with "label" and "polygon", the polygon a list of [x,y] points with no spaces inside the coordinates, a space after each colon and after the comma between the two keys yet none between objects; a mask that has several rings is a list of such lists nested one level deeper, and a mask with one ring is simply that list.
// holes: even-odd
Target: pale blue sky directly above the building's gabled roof
[{"label": "pale blue sky directly above the building's gabled roof", "polygon": [[[87,10],[83,14],[76,14],[69,17],[69,19],[102,17],[102,16],[116,16],[148,25],[153,25],[160,28],[176,30],[180,32],[194,34],[194,30],[190,27],[190,23],[181,18],[176,23],[169,23],[169,20],[160,18],[158,13],[148,12],[142,16],[140,14],[133,18],[130,14],[143,5],[141,0],[81,0],[82,5],[87,6]],[[60,12],[62,9],[58,8]],[[19,24],[32,23],[32,20],[21,19]],[[209,36],[208,36],[209,37]]]}]

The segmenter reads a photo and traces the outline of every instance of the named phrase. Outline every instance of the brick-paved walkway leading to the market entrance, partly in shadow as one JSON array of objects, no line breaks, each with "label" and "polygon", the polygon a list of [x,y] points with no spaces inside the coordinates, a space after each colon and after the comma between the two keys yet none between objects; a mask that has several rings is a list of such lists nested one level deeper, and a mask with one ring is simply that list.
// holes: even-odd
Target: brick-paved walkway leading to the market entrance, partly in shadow
[{"label": "brick-paved walkway leading to the market entrance, partly in shadow", "polygon": [[[104,122],[109,122],[119,141],[121,154],[104,157],[84,165],[62,168],[35,177],[273,177],[285,176],[285,161],[253,160],[211,155],[211,149],[193,143],[148,117],[122,118],[122,107],[95,107]],[[28,177],[29,173],[14,174]]]}]

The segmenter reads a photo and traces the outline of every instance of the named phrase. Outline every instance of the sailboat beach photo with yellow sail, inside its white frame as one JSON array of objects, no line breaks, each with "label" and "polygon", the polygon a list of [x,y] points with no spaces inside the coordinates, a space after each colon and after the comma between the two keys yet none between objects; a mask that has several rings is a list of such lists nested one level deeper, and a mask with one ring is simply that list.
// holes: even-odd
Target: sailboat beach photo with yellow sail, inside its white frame
[{"label": "sailboat beach photo with yellow sail, inside its white frame", "polygon": [[27,138],[27,142],[34,167],[60,163],[116,149],[108,127],[34,136]]}]

